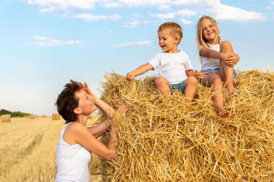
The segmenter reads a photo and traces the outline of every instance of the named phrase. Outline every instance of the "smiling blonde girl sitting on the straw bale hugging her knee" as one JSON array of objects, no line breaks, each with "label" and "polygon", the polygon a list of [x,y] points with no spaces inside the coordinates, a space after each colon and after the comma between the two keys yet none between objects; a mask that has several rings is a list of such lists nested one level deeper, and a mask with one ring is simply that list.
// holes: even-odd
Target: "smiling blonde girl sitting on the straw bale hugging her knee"
[{"label": "smiling blonde girl sitting on the straw bale hugging her knee", "polygon": [[223,108],[223,82],[227,82],[229,95],[234,95],[236,89],[233,81],[238,74],[234,65],[240,57],[233,51],[229,41],[221,41],[218,24],[210,16],[202,16],[197,22],[197,42],[201,59],[201,69],[208,78],[203,78],[202,83],[212,87],[215,94],[212,100],[217,108],[219,117],[227,117],[229,110]]}]

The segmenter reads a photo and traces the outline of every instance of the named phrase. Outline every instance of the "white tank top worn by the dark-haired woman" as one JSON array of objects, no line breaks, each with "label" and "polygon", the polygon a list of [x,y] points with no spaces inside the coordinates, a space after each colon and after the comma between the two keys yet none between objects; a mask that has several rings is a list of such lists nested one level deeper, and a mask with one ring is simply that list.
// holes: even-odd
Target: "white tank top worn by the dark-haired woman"
[{"label": "white tank top worn by the dark-haired woman", "polygon": [[62,127],[57,145],[57,174],[55,181],[91,181],[88,170],[92,161],[91,153],[79,144],[69,145],[63,140],[64,130],[69,124],[71,123],[67,123]]}]

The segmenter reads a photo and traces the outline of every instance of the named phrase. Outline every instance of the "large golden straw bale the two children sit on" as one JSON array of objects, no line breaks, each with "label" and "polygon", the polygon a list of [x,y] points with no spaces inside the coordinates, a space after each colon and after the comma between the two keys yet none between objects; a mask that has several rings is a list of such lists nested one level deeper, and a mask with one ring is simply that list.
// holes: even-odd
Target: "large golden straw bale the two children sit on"
[{"label": "large golden straw bale the two children sit on", "polygon": [[188,104],[177,91],[164,99],[153,80],[105,76],[102,99],[130,106],[117,121],[108,181],[274,181],[274,72],[240,72],[236,95],[223,89],[231,110],[225,119],[216,115],[210,88],[199,85]]}]

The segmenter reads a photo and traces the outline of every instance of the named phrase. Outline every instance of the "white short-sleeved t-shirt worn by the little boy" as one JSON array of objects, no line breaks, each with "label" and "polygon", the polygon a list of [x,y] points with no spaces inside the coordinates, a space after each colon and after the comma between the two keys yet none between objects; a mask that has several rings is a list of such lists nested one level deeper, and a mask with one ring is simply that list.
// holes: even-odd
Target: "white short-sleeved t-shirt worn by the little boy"
[{"label": "white short-sleeved t-shirt worn by the little boy", "polygon": [[188,76],[186,76],[185,71],[193,69],[188,55],[182,50],[175,54],[160,52],[148,63],[152,65],[153,70],[160,67],[158,76],[163,76],[171,84],[177,84],[186,80]]}]

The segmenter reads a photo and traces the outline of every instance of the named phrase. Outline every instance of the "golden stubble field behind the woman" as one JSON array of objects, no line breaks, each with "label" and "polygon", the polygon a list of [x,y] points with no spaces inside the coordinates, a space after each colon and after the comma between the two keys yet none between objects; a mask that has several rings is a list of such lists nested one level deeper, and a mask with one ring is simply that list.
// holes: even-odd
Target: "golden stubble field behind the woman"
[{"label": "golden stubble field behind the woman", "polygon": [[[95,123],[89,119],[87,125]],[[51,117],[12,118],[0,122],[0,181],[54,181],[56,147],[64,120]],[[99,158],[93,155],[92,181],[102,181]]]}]

